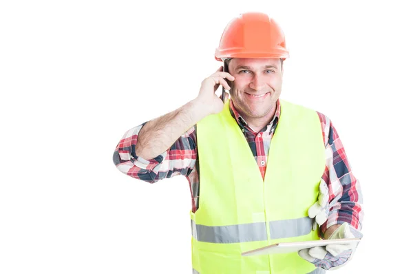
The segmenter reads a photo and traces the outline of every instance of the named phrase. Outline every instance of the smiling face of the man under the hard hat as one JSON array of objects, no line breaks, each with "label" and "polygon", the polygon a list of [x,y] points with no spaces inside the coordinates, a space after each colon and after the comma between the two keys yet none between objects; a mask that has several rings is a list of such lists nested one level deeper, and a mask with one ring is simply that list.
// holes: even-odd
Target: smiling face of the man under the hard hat
[{"label": "smiling face of the man under the hard hat", "polygon": [[282,87],[280,59],[234,58],[229,61],[229,73],[235,77],[231,98],[244,119],[274,115]]}]

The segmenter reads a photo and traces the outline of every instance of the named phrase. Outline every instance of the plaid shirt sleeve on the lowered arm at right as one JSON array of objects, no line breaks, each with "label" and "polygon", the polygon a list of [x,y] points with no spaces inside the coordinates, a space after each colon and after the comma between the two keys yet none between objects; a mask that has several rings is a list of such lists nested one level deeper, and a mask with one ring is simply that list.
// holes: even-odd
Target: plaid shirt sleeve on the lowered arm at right
[{"label": "plaid shirt sleeve on the lowered arm at right", "polygon": [[326,169],[321,180],[328,186],[330,212],[321,226],[324,233],[328,227],[348,222],[355,229],[361,230],[363,221],[363,196],[359,180],[354,177],[348,162],[346,151],[330,119],[319,114],[326,147]]}]

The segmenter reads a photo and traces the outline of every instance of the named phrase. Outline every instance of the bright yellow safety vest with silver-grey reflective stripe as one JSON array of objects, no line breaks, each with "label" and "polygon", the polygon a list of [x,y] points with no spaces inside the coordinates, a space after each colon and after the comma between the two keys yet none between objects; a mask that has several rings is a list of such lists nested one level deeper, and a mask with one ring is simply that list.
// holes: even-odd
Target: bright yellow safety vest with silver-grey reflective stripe
[{"label": "bright yellow safety vest with silver-grey reflective stripe", "polygon": [[197,124],[197,143],[200,202],[191,212],[193,272],[324,273],[297,253],[241,255],[275,242],[319,240],[307,213],[317,201],[326,165],[317,112],[281,101],[264,181],[228,101],[222,112]]}]

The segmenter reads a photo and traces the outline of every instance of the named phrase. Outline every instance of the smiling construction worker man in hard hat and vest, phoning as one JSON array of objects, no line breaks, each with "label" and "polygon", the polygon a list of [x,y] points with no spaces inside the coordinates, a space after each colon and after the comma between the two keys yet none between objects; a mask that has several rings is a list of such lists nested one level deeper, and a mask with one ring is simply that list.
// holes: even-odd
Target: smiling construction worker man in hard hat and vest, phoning
[{"label": "smiling construction worker man in hard hat and vest, phoning", "polygon": [[[156,182],[191,185],[193,273],[325,273],[354,245],[242,256],[274,242],[361,238],[361,191],[324,114],[279,99],[284,34],[266,14],[245,13],[222,34],[198,96],[126,132],[114,163]],[[222,85],[222,101],[215,91]],[[230,98],[231,97],[231,98]],[[317,226],[318,224],[318,226]]]}]

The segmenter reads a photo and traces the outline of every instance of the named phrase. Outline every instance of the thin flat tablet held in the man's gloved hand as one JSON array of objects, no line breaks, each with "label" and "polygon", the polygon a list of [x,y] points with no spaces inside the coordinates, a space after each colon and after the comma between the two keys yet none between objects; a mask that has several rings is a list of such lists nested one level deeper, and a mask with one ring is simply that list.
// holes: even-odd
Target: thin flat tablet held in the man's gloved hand
[{"label": "thin flat tablet held in the man's gloved hand", "polygon": [[315,246],[326,246],[328,244],[357,244],[361,238],[350,239],[332,239],[332,240],[315,240],[304,242],[279,242],[277,244],[271,244],[269,246],[261,247],[260,249],[253,249],[241,253],[242,256],[252,255],[268,255],[275,253],[290,253],[298,252],[301,249],[310,249]]}]

